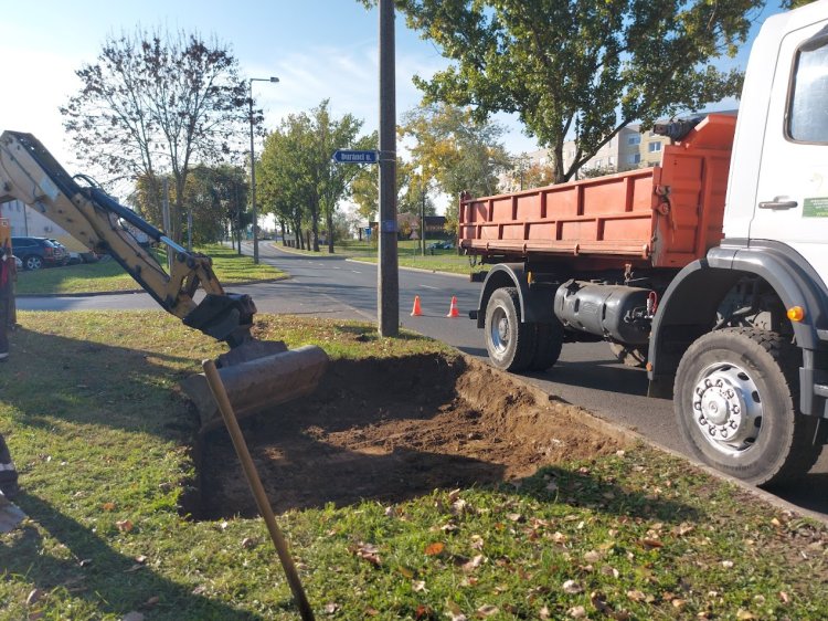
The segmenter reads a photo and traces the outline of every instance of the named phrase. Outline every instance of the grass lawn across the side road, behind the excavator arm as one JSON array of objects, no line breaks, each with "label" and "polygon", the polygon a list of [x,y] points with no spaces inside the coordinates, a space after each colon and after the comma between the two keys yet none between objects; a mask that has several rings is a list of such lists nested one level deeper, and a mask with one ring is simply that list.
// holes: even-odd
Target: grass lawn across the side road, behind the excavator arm
[{"label": "grass lawn across the side road, behind the excavator arm", "polygon": [[[213,271],[224,285],[284,276],[279,270],[263,263],[256,265],[252,257],[240,256],[226,246],[210,244],[197,251],[213,260]],[[167,253],[163,250],[155,252],[159,263],[166,270]],[[138,288],[140,286],[132,277],[112,260],[51,267],[36,272],[21,271],[17,283],[17,293],[21,295],[97,293]]]}]

